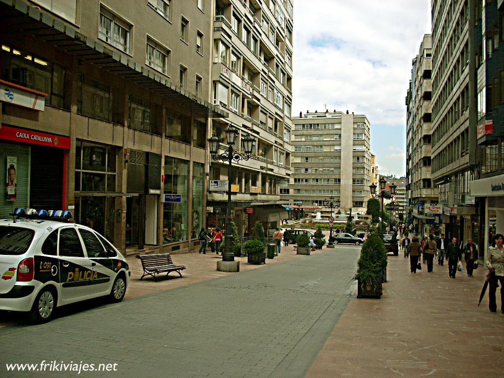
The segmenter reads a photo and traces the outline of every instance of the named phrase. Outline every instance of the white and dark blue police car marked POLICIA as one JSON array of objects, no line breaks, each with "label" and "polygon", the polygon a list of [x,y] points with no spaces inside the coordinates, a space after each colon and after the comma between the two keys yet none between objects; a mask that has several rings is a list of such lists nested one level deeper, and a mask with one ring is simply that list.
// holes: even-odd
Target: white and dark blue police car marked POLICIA
[{"label": "white and dark blue police car marked POLICIA", "polygon": [[93,229],[69,221],[70,211],[17,208],[0,219],[0,310],[29,311],[48,322],[56,307],[124,297],[126,259]]}]

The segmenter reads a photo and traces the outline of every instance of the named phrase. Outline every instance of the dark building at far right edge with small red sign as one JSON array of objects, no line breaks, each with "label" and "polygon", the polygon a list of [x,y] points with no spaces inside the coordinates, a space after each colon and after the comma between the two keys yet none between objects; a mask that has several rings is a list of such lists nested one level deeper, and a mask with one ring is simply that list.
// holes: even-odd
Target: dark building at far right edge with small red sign
[{"label": "dark building at far right edge with small red sign", "polygon": [[470,57],[472,82],[477,83],[471,91],[476,111],[470,122],[476,134],[479,175],[470,182],[465,202],[475,201],[479,217],[473,216],[474,233],[479,226],[479,237],[486,246],[495,233],[504,232],[504,2],[484,2],[482,6],[471,1],[469,6],[469,25],[474,26],[469,35],[475,46]]}]

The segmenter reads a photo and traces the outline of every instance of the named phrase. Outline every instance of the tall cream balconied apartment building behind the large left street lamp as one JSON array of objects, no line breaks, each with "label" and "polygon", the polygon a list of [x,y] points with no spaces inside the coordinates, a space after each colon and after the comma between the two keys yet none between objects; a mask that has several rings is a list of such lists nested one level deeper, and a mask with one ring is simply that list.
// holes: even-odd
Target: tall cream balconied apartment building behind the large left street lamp
[{"label": "tall cream balconied apartment building behind the large left street lamp", "polygon": [[[291,0],[215,0],[212,41],[212,101],[227,118],[212,119],[212,133],[222,139],[236,127],[239,138],[256,139],[248,160],[211,161],[210,179],[232,183],[231,216],[242,234],[257,220],[274,230],[287,218],[280,190],[290,177],[292,105]],[[240,145],[235,146],[240,149]],[[227,194],[211,191],[207,224],[225,223]]]}]

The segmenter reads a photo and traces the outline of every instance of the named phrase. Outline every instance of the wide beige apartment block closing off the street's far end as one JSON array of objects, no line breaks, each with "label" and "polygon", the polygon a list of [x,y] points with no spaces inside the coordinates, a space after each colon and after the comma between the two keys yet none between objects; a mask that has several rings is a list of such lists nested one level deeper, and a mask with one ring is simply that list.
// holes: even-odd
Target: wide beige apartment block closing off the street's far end
[{"label": "wide beige apartment block closing off the street's far end", "polygon": [[322,207],[334,197],[340,211],[364,214],[371,184],[367,117],[308,111],[293,117],[292,123],[292,177],[282,189],[283,203]]}]

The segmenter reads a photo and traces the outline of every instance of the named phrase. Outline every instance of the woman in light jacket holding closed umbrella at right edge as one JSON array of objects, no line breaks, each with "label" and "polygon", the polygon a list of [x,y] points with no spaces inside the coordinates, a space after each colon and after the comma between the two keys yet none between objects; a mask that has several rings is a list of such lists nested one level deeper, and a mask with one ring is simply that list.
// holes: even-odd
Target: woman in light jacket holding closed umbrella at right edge
[{"label": "woman in light jacket holding closed umbrella at right edge", "polygon": [[485,263],[492,276],[488,285],[490,287],[488,289],[488,308],[492,312],[497,310],[495,293],[498,283],[500,283],[500,311],[504,313],[504,247],[502,246],[504,236],[495,234],[492,240],[492,246],[488,247],[485,257]]}]

